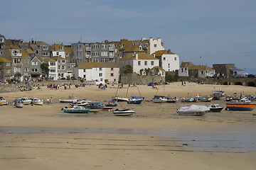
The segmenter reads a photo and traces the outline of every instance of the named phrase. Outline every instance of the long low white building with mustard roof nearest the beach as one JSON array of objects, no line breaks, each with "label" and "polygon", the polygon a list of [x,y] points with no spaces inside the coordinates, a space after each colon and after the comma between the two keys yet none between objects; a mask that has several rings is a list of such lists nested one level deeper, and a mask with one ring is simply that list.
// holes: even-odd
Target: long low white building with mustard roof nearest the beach
[{"label": "long low white building with mustard roof nearest the beach", "polygon": [[96,81],[96,84],[118,83],[119,66],[116,62],[80,62],[78,67],[73,68],[73,77]]}]

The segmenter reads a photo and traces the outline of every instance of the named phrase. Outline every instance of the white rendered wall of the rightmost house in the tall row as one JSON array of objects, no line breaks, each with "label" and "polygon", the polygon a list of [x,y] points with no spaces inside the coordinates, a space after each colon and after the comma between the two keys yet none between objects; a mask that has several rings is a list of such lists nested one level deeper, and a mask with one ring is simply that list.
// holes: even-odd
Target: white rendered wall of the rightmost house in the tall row
[{"label": "white rendered wall of the rightmost house in the tall row", "polygon": [[[164,60],[165,58],[165,60]],[[176,58],[176,60],[175,60]],[[161,56],[161,64],[162,68],[166,72],[172,72],[174,70],[179,69],[179,57],[178,55],[162,55]]]}]

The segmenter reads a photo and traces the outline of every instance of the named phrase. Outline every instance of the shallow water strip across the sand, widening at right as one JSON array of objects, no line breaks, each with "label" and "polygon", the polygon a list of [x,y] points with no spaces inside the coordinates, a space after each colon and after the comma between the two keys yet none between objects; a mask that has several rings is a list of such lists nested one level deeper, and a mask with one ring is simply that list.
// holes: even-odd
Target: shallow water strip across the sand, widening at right
[{"label": "shallow water strip across the sand, widening at right", "polygon": [[191,130],[191,129],[63,129],[63,128],[0,128],[0,134],[11,131],[12,134],[33,133],[102,133],[102,134],[125,134],[125,135],[151,135],[172,137],[187,151],[200,152],[256,152],[256,133],[252,132],[250,124],[247,127],[237,127],[237,130],[214,129],[214,131]]}]

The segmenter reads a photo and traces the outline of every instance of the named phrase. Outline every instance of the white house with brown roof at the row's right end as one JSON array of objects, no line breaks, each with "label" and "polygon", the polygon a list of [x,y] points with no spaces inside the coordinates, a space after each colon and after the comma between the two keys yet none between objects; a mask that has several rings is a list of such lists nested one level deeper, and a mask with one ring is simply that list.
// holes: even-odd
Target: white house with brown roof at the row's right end
[{"label": "white house with brown roof at the row's right end", "polygon": [[159,59],[159,66],[166,72],[173,72],[179,69],[179,57],[171,50],[160,50],[153,54]]}]

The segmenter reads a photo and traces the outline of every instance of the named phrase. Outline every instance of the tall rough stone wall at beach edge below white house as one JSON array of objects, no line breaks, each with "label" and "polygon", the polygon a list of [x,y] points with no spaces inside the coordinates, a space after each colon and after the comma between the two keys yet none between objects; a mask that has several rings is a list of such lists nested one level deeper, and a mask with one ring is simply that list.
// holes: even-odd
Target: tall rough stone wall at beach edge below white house
[{"label": "tall rough stone wall at beach edge below white house", "polygon": [[144,84],[147,85],[150,82],[165,82],[165,77],[160,76],[142,76],[138,74],[122,74],[120,76],[120,83],[122,84]]}]

